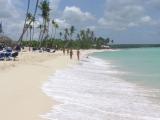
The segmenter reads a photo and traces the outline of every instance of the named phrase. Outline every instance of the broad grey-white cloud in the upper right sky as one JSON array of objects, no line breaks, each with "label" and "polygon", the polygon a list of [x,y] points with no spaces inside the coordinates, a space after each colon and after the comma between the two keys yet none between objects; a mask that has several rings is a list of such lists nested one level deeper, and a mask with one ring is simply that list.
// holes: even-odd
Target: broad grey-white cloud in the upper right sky
[{"label": "broad grey-white cloud in the upper right sky", "polygon": [[106,0],[106,9],[104,16],[98,20],[99,25],[108,29],[126,30],[154,24],[140,2],[142,0]]}]

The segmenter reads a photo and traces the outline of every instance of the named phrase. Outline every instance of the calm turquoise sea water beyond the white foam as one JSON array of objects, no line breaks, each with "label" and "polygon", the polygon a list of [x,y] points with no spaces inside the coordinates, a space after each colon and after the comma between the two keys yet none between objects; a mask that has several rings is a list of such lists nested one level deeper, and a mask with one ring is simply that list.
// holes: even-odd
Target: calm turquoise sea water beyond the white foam
[{"label": "calm turquoise sea water beyond the white foam", "polygon": [[93,56],[109,62],[112,70],[125,73],[117,77],[160,89],[160,48],[121,49]]}]

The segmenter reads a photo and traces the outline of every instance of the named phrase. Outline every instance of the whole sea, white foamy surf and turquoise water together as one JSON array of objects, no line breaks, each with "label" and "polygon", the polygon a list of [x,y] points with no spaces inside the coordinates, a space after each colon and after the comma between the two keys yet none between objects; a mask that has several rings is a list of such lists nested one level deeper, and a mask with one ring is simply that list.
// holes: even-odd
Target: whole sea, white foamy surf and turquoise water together
[{"label": "whole sea, white foamy surf and turquoise water together", "polygon": [[160,48],[93,53],[57,71],[43,91],[48,120],[160,120]]}]

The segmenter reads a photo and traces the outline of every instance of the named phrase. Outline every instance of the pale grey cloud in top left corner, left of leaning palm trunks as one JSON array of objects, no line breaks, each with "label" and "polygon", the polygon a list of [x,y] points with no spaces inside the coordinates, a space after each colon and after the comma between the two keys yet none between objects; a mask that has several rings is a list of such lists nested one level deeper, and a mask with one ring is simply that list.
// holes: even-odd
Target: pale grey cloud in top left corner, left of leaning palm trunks
[{"label": "pale grey cloud in top left corner, left of leaning palm trunks", "polygon": [[0,0],[0,21],[3,24],[3,31],[5,35],[8,35],[12,39],[17,39],[20,30],[23,26],[23,16],[22,9],[18,8],[16,5],[20,4],[19,0]]}]

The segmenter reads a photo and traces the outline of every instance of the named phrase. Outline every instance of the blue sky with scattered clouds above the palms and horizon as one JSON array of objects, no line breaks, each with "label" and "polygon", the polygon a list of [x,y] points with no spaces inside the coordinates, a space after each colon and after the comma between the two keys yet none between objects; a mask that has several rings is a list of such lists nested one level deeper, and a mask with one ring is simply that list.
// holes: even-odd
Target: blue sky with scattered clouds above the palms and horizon
[{"label": "blue sky with scattered clouds above the palms and horizon", "polygon": [[[50,17],[59,30],[74,25],[115,43],[160,43],[160,0],[49,0]],[[31,0],[33,12],[36,0]],[[27,0],[0,0],[4,33],[17,40],[22,32]],[[36,16],[37,25],[42,21]],[[38,35],[38,31],[37,31]]]}]

